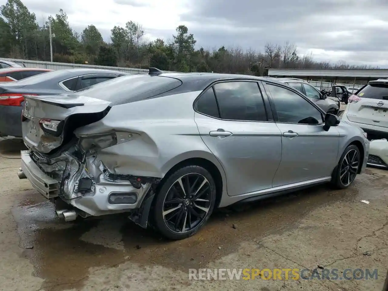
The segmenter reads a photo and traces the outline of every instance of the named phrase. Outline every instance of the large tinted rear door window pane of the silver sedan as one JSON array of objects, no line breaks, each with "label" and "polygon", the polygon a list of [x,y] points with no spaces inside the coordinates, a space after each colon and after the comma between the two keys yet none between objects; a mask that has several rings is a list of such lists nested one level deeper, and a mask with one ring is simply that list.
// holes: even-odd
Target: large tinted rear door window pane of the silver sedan
[{"label": "large tinted rear door window pane of the silver sedan", "polygon": [[222,119],[267,121],[262,94],[256,82],[214,85]]}]

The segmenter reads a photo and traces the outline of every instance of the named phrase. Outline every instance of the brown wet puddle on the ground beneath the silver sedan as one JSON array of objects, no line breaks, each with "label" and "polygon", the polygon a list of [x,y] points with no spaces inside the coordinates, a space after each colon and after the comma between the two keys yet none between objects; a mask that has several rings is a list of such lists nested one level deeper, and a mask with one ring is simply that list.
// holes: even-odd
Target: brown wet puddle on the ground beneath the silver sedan
[{"label": "brown wet puddle on the ground beneath the silver sedan", "polygon": [[129,222],[123,214],[62,222],[54,205],[33,190],[26,191],[12,213],[20,246],[25,248],[23,256],[34,265],[34,275],[45,279],[42,288],[60,291],[80,288],[90,268],[113,267],[127,260],[175,270],[204,267],[236,252],[242,241],[296,227],[298,220],[315,208],[357,199],[359,191],[373,191],[372,173],[360,176],[345,191],[322,185],[216,210],[203,229],[181,241],[166,241],[155,231]]}]

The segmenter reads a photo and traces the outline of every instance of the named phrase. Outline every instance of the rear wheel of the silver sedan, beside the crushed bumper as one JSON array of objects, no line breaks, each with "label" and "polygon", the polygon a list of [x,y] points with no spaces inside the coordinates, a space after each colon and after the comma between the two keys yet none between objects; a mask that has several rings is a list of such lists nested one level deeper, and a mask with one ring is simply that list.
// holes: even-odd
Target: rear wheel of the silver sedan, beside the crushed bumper
[{"label": "rear wheel of the silver sedan, beside the crushed bumper", "polygon": [[[216,185],[213,177],[205,168],[192,165],[176,170],[162,183],[153,208],[156,229],[172,240],[192,236],[203,227],[213,212],[216,200]],[[181,185],[185,188],[184,192]],[[199,187],[200,185],[203,186]],[[202,192],[204,193],[201,194]],[[192,197],[194,194],[201,198]]]}]

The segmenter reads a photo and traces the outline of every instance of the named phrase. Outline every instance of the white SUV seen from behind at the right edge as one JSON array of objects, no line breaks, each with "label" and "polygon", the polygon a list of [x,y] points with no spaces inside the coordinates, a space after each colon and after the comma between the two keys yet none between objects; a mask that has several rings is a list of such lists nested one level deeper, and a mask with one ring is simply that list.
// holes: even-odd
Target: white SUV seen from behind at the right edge
[{"label": "white SUV seen from behind at the right edge", "polygon": [[369,81],[350,96],[342,120],[362,128],[369,139],[388,138],[388,80]]}]

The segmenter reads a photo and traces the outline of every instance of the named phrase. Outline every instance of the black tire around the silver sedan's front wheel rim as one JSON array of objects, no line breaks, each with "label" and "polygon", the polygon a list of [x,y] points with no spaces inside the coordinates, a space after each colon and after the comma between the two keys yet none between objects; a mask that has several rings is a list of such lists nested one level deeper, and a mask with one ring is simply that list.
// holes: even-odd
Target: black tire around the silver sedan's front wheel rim
[{"label": "black tire around the silver sedan's front wheel rim", "polygon": [[[358,157],[357,158],[357,161],[358,161],[357,168],[354,168],[356,166],[356,164],[354,164],[354,162],[353,162],[353,166],[351,167],[352,169],[350,169],[350,167],[348,167],[349,170],[344,170],[344,166],[347,166],[347,165],[345,165],[346,161],[349,159],[351,160],[352,155],[354,153],[356,153],[355,155],[356,155],[356,157]],[[345,159],[345,157],[346,157],[346,159]],[[338,165],[334,168],[332,179],[331,179],[332,185],[336,189],[346,189],[350,185],[352,185],[352,183],[354,182],[354,180],[357,176],[357,173],[360,169],[361,163],[362,163],[362,161],[361,161],[361,154],[360,154],[359,148],[355,145],[349,145],[348,147],[346,147],[345,151],[341,155],[341,158],[340,158],[340,161],[338,162]],[[350,175],[348,176],[349,172],[350,172]],[[345,176],[343,176],[344,173],[345,173]],[[350,177],[349,183],[348,183],[349,180],[344,182],[346,177]]]}]

